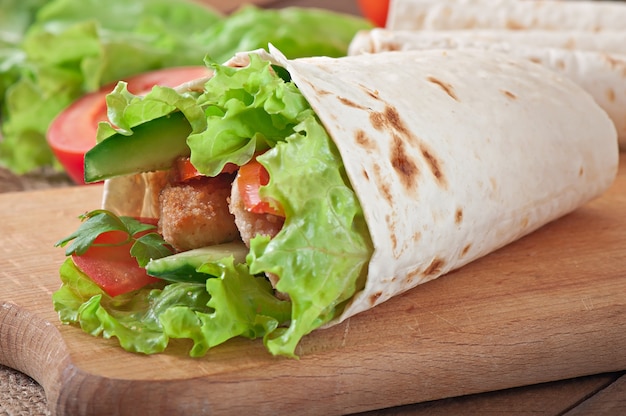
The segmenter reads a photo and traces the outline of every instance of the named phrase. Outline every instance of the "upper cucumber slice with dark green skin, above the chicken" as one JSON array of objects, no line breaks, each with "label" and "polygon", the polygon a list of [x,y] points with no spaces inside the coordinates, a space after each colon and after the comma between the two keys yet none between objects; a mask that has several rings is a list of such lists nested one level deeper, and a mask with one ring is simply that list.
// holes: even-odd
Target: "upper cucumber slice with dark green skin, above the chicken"
[{"label": "upper cucumber slice with dark green skin, above the chicken", "polygon": [[107,137],[85,153],[85,182],[169,169],[177,157],[189,156],[190,133],[183,113],[175,112],[134,127],[130,136]]}]

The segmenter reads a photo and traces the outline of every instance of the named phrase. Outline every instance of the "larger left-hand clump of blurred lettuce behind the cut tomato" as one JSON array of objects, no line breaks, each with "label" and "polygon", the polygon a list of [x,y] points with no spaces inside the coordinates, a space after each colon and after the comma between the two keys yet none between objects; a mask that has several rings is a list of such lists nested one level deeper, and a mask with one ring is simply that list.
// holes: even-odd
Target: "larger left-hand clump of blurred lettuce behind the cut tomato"
[{"label": "larger left-hand clump of blurred lettuce behind the cut tomato", "polygon": [[121,77],[197,64],[206,50],[200,35],[221,18],[181,0],[47,2],[19,42],[19,76],[1,101],[0,165],[15,173],[54,165],[45,134],[59,112]]}]

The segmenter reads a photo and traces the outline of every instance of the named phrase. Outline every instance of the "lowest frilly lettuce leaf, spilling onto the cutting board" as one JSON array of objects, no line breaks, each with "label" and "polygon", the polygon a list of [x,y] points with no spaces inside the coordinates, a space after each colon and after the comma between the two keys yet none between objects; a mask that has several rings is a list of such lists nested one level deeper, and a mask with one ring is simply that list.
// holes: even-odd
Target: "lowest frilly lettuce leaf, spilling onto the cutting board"
[{"label": "lowest frilly lettuce leaf, spilling onto the cutting board", "polygon": [[234,265],[232,257],[198,268],[203,270],[217,277],[110,297],[68,258],[53,304],[64,323],[115,337],[125,350],[143,354],[163,352],[171,338],[185,338],[193,341],[190,356],[199,357],[233,337],[261,337],[289,321],[289,302],[277,299],[266,280]]}]

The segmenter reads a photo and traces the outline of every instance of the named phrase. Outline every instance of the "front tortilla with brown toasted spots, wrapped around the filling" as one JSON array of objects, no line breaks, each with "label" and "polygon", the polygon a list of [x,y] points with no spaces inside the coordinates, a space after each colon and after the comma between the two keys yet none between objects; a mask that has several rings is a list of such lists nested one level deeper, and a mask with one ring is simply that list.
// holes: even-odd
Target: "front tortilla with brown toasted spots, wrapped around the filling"
[{"label": "front tortilla with brown toasted spots, wrapped around the filling", "polygon": [[[256,53],[287,69],[327,129],[373,242],[364,287],[327,325],[576,209],[617,173],[606,113],[571,80],[526,60],[480,50]],[[118,206],[115,195],[105,192],[105,207]]]}]

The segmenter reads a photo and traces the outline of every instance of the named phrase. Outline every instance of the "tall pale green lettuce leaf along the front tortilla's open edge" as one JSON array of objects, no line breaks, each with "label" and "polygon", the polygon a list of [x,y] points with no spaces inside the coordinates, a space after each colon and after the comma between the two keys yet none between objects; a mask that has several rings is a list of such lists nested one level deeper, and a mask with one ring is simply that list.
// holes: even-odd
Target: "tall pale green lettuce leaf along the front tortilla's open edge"
[{"label": "tall pale green lettuce leaf along the front tortilla's open edge", "polygon": [[325,129],[310,116],[296,133],[257,160],[270,174],[262,188],[287,214],[271,240],[251,242],[252,273],[280,277],[276,289],[288,293],[292,321],[266,339],[275,355],[293,356],[300,339],[341,312],[365,278],[372,246],[358,198]]}]

